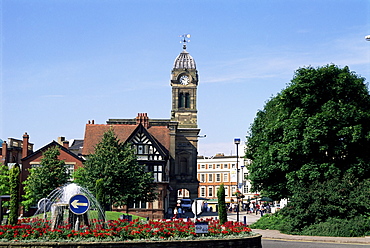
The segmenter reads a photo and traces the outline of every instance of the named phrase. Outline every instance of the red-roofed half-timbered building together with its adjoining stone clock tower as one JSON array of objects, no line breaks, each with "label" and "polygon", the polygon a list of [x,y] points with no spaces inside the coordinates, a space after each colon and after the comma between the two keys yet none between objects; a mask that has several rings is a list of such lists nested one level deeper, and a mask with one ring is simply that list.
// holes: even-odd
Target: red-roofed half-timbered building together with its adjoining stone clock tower
[{"label": "red-roofed half-timbered building together with its adjoining stone clock tower", "polygon": [[[186,51],[186,41],[183,51],[175,59],[170,85],[172,109],[169,119],[151,119],[147,113],[139,113],[132,119],[109,119],[105,124],[89,121],[85,127],[84,157],[94,153],[104,132],[113,128],[121,142],[134,145],[138,163],[153,172],[158,199],[126,206],[129,213],[142,217],[163,218],[181,198],[198,196],[198,71],[194,59]],[[121,210],[126,211],[126,207]]]}]

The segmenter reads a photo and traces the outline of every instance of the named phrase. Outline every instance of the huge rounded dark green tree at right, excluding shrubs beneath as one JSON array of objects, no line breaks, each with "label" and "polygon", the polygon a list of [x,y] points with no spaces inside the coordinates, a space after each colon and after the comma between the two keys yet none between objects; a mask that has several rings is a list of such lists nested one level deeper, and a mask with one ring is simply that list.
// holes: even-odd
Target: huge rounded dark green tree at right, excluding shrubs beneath
[{"label": "huge rounded dark green tree at right, excluding shrubs beneath", "polygon": [[370,96],[364,80],[348,67],[298,69],[251,125],[246,156],[254,188],[280,199],[297,196],[312,182],[369,178]]}]

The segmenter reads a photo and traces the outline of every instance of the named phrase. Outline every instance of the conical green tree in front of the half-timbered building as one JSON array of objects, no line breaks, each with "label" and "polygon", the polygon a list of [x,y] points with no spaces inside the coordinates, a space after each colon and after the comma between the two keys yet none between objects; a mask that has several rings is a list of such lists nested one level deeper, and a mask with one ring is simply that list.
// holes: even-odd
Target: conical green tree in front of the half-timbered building
[{"label": "conical green tree in front of the half-timbered building", "polygon": [[[102,179],[102,180],[101,180]],[[98,181],[100,180],[100,182]],[[76,182],[99,197],[106,209],[124,206],[134,201],[150,202],[156,198],[153,175],[145,165],[137,163],[131,144],[124,144],[111,128],[104,133],[102,141],[89,155],[83,168],[76,172]],[[98,183],[97,183],[98,181]],[[96,185],[99,185],[98,188]]]}]

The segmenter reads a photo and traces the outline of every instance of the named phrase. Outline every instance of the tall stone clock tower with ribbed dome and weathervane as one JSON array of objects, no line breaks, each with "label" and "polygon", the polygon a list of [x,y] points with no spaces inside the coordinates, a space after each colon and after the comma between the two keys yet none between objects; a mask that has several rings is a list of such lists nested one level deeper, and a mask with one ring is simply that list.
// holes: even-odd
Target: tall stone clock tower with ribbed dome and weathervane
[{"label": "tall stone clock tower with ribbed dome and weathervane", "polygon": [[[175,59],[171,72],[171,122],[176,125],[172,137],[173,164],[170,170],[170,202],[198,197],[197,179],[198,135],[197,87],[198,71],[193,57],[186,51],[187,38],[183,35],[183,51]],[[184,193],[186,192],[186,193]],[[172,206],[174,207],[174,206]]]}]

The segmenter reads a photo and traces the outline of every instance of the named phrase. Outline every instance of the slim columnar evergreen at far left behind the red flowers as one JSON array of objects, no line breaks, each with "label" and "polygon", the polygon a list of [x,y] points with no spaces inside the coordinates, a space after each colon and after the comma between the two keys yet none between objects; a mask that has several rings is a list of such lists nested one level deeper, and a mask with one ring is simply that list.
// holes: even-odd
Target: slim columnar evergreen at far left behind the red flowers
[{"label": "slim columnar evergreen at far left behind the red flowers", "polygon": [[18,222],[20,175],[21,170],[19,168],[19,165],[15,164],[9,173],[9,184],[10,184],[9,224],[11,225],[15,225]]}]

